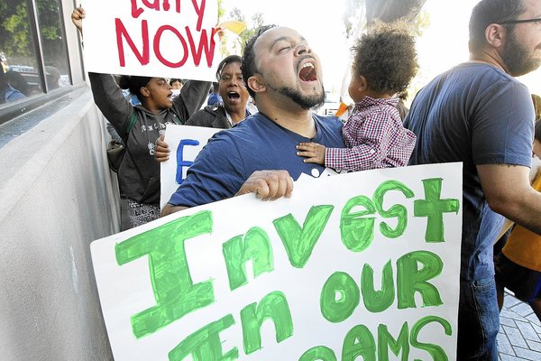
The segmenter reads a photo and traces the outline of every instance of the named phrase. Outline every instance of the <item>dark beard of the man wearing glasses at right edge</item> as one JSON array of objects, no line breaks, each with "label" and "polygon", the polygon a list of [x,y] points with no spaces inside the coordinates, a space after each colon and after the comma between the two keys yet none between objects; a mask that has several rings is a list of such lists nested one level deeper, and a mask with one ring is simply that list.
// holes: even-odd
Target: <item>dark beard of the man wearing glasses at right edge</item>
[{"label": "dark beard of the man wearing glasses at right edge", "polygon": [[508,32],[508,39],[501,53],[501,59],[513,77],[527,74],[539,68],[541,64],[541,59],[534,59],[528,54],[526,47],[518,42],[514,30]]}]

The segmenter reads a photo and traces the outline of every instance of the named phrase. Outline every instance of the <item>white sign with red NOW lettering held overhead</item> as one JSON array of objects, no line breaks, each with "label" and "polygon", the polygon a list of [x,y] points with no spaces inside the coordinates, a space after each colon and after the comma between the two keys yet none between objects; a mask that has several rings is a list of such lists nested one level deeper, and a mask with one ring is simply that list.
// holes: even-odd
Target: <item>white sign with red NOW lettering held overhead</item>
[{"label": "white sign with red NOW lettering held overhead", "polygon": [[88,71],[215,79],[217,1],[91,0],[83,7]]}]

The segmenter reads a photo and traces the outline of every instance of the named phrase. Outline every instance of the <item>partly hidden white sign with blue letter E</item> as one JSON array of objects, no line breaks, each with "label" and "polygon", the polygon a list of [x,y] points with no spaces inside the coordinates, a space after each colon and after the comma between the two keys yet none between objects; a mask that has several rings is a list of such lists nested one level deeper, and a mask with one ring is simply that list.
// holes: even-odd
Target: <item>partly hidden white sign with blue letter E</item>
[{"label": "partly hidden white sign with blue letter E", "polygon": [[167,125],[164,142],[170,146],[170,159],[160,165],[160,208],[179,188],[186,172],[215,133],[223,129],[189,125]]}]

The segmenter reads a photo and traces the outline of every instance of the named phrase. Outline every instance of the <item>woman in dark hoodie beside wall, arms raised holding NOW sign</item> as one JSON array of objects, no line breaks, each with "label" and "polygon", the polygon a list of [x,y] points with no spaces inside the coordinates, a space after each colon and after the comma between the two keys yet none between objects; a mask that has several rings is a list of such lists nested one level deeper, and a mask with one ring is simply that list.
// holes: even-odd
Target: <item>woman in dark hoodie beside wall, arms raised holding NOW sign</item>
[{"label": "woman in dark hoodie beside wall, arms raised holding NOW sign", "polygon": [[[78,7],[71,20],[82,30],[85,12]],[[154,143],[166,124],[183,124],[205,101],[209,84],[188,81],[171,100],[166,79],[124,76],[122,88],[141,100],[133,106],[113,76],[89,73],[94,101],[123,138],[126,153],[118,171],[122,229],[140,226],[160,216],[160,164],[154,162]]]}]

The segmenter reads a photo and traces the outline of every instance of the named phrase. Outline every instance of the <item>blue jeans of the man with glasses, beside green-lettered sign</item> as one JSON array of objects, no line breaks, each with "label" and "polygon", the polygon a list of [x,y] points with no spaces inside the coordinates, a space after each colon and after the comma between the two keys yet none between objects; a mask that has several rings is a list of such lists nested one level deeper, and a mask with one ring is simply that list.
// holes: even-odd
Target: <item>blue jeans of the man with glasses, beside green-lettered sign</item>
[{"label": "blue jeans of the man with glasses, beside green-lettered sign", "polygon": [[494,277],[460,281],[456,359],[498,360],[500,312]]}]

